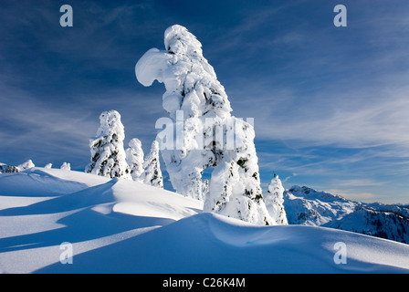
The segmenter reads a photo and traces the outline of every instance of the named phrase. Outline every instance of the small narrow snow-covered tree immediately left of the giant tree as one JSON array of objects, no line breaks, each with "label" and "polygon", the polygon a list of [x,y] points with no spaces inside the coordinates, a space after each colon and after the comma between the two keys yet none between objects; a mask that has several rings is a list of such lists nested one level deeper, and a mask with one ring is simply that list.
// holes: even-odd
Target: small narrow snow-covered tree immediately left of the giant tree
[{"label": "small narrow snow-covered tree immediately left of the giant tree", "polygon": [[143,183],[162,188],[163,177],[161,171],[161,164],[159,162],[159,144],[158,141],[152,142],[151,152],[143,162],[144,171],[141,175]]}]

